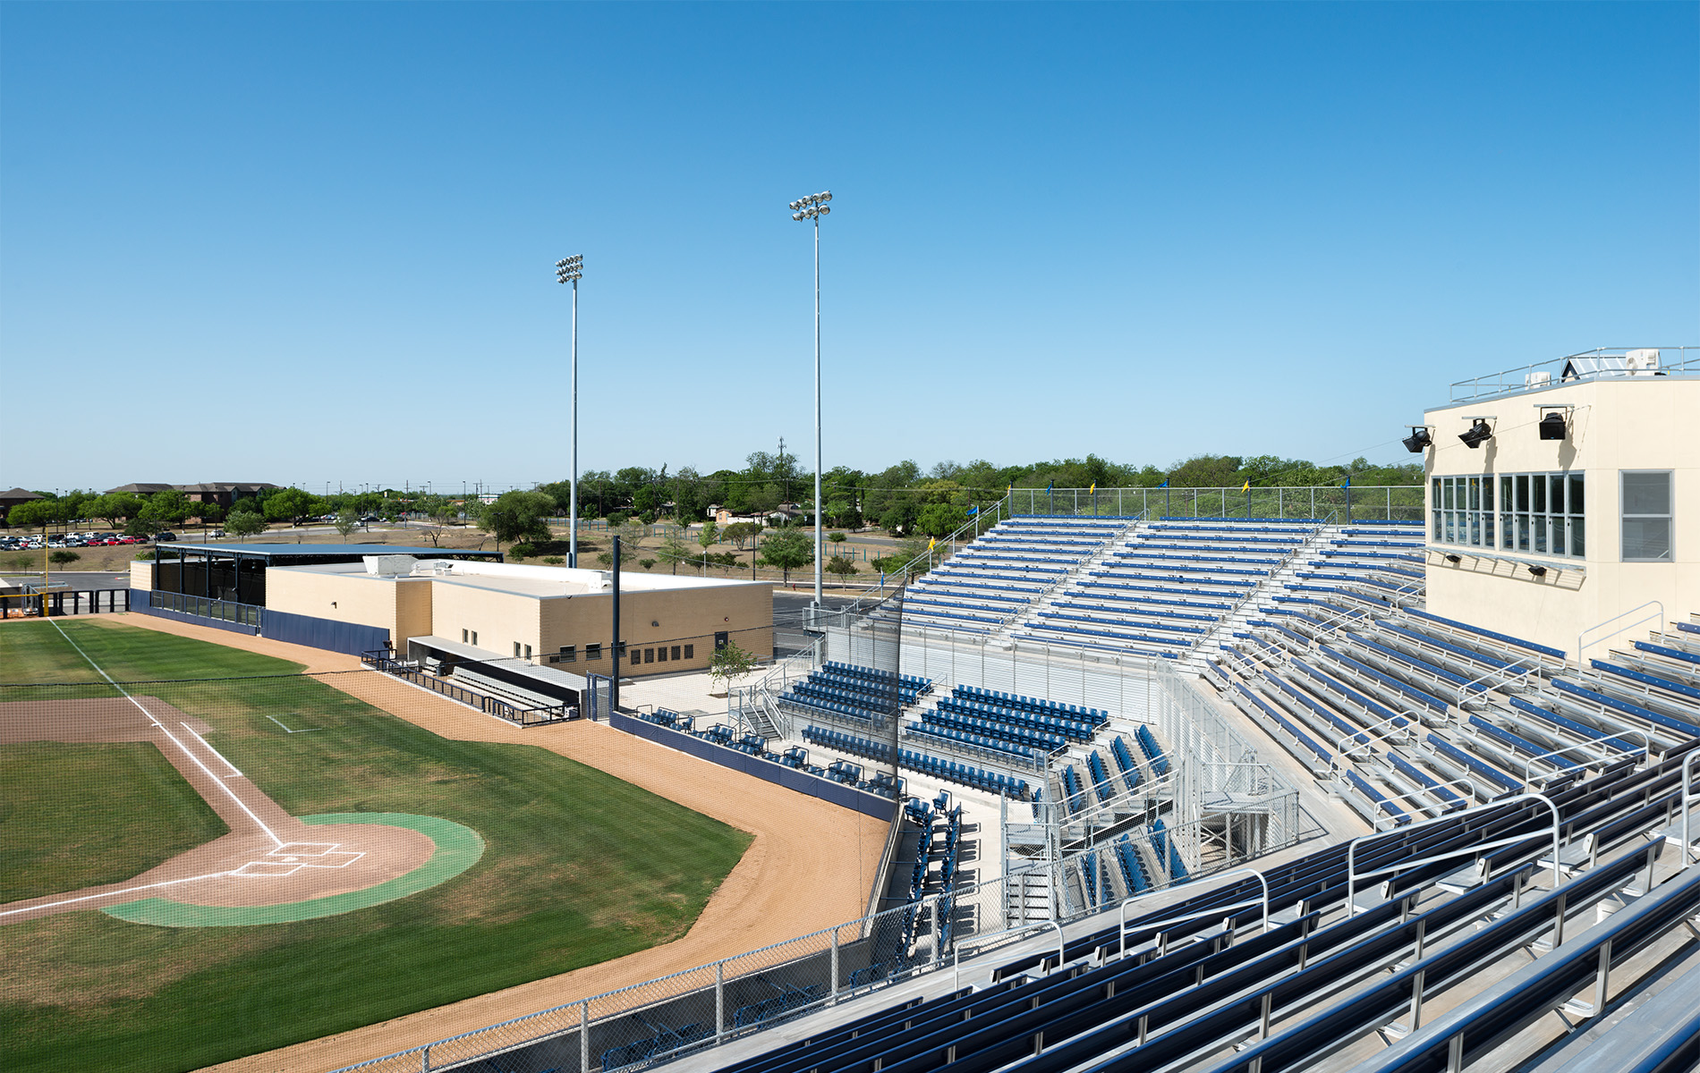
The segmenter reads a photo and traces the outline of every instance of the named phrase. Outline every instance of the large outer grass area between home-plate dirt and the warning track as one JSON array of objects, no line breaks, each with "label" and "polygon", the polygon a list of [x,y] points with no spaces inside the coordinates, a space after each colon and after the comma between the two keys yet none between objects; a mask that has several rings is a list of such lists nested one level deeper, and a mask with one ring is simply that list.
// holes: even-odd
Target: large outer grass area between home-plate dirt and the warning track
[{"label": "large outer grass area between home-plate dirt and the warning track", "polygon": [[[0,635],[36,625],[58,637],[51,623]],[[121,681],[292,669],[110,620],[61,625]],[[70,674],[80,657],[49,640],[24,642],[32,666]],[[78,693],[107,689],[53,691]],[[750,842],[544,749],[444,740],[316,679],[138,693],[211,723],[207,740],[294,815],[442,817],[483,835],[484,856],[442,886],[298,924],[167,929],[75,912],[0,925],[8,1073],[194,1070],[619,958],[682,935]],[[37,694],[0,688],[0,701]]]}]

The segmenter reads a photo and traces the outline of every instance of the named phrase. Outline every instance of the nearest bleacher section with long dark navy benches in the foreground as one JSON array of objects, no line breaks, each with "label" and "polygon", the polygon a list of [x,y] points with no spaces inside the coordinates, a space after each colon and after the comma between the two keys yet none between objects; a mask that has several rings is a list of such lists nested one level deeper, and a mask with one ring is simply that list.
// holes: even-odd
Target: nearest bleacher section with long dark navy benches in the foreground
[{"label": "nearest bleacher section with long dark navy benches in the foreground", "polygon": [[[1644,815],[1647,805],[1668,810],[1678,791],[1674,762],[1668,757],[1647,771],[1620,766],[1550,789],[1547,800],[1571,840],[1625,817],[1647,832],[1659,822]],[[1355,847],[1360,876],[1374,876],[1355,890],[1345,844],[1270,866],[1266,920],[1261,885],[1239,878],[1119,925],[1122,891],[1153,888],[1139,837],[1119,839],[1081,873],[1091,905],[1107,910],[1103,925],[1071,935],[1061,958],[1054,942],[1040,952],[993,956],[974,976],[984,980],[989,968],[989,986],[952,988],[901,1010],[869,998],[865,1014],[840,1007],[830,1024],[794,1032],[782,1046],[707,1068],[1392,1073],[1445,1070],[1448,1059],[1467,1066],[1578,992],[1593,997],[1603,964],[1639,975],[1647,971],[1635,961],[1644,951],[1683,949],[1683,922],[1700,913],[1700,866],[1673,869],[1663,839],[1618,842],[1608,859],[1552,885],[1544,861],[1547,815],[1535,801],[1513,800],[1387,832]],[[1161,830],[1139,835],[1161,851]],[[1664,874],[1656,886],[1649,886],[1652,869]],[[1484,971],[1494,966],[1510,971]],[[1615,981],[1613,975],[1612,995],[1634,993]],[[1663,1019],[1640,1017],[1642,1032],[1622,1051],[1584,1068],[1630,1068],[1610,1065],[1622,1056],[1683,1054],[1692,1046],[1685,1034],[1700,1031],[1692,1000],[1681,1000],[1697,993],[1695,971],[1668,993]],[[1425,1000],[1443,1012],[1411,1024],[1408,1015]],[[1399,1025],[1401,1019],[1408,1022]],[[1583,1041],[1593,1024],[1545,1019],[1540,1031],[1562,1044]],[[1365,1039],[1372,1053],[1362,1065],[1324,1065],[1353,1054],[1346,1048]],[[1581,1053],[1598,1054],[1598,1044]]]}]

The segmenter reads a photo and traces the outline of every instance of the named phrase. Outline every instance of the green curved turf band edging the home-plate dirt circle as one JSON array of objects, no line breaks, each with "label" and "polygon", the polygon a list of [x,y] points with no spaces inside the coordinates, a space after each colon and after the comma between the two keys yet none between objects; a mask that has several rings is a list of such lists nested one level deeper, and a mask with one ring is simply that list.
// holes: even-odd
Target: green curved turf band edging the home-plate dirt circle
[{"label": "green curved turf band edging the home-plate dirt circle", "polygon": [[420,864],[405,876],[386,879],[377,886],[313,898],[309,902],[286,902],[282,905],[190,905],[170,898],[141,898],[121,905],[105,907],[104,913],[129,920],[131,924],[155,924],[160,927],[238,927],[250,924],[292,924],[296,920],[313,920],[316,917],[333,917],[357,908],[394,902],[430,890],[459,876],[484,856],[484,840],[471,827],[462,827],[454,820],[437,817],[415,817],[403,812],[332,812],[316,817],[301,817],[311,827],[332,823],[376,823],[384,827],[406,827],[427,835],[437,844],[430,861]]}]

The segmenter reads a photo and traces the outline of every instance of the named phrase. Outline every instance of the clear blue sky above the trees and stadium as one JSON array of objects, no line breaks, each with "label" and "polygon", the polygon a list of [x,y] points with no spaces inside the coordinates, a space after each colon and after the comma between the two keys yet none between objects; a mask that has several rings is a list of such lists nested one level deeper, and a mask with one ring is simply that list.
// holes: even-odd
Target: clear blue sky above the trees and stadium
[{"label": "clear blue sky above the trees and stadium", "polygon": [[[0,487],[1404,457],[1700,343],[1700,7],[0,5]],[[39,406],[37,406],[39,404]]]}]

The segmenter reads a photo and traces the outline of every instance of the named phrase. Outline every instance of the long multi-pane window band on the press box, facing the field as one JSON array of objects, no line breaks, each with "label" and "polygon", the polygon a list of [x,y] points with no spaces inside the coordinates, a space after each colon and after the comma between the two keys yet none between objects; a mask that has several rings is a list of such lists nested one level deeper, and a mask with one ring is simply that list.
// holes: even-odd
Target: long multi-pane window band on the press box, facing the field
[{"label": "long multi-pane window band on the press box, facing the field", "polygon": [[1433,477],[1435,543],[1583,559],[1588,550],[1583,474]]}]

